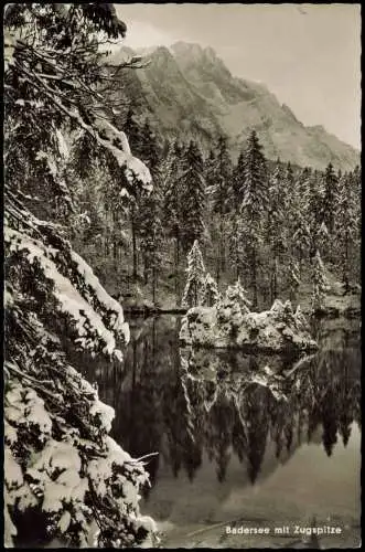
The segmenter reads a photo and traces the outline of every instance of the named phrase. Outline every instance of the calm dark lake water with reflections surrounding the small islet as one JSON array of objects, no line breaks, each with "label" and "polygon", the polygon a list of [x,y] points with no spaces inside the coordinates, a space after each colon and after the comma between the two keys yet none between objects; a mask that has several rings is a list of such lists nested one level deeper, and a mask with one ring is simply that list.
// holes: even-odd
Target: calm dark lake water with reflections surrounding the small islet
[{"label": "calm dark lake water with reflections surrounding the small islet", "polygon": [[[124,369],[86,374],[116,410],[116,440],[135,457],[159,453],[147,466],[141,509],[158,521],[162,546],[302,546],[296,524],[341,528],[312,538],[311,548],[356,546],[358,320],[318,325],[320,351],[300,362],[182,350],[179,323],[131,320]],[[275,534],[278,527],[289,532]]]}]

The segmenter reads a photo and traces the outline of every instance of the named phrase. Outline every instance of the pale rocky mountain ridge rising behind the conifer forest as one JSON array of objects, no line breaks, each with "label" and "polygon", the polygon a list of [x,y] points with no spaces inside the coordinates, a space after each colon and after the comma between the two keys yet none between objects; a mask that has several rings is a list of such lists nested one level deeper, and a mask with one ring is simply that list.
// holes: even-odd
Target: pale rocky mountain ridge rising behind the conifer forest
[{"label": "pale rocky mountain ridge rising behind the conifer forest", "polygon": [[236,159],[255,129],[269,159],[316,169],[332,162],[336,169],[352,170],[359,163],[355,148],[323,125],[305,126],[264,83],[232,75],[211,46],[179,41],[169,47],[122,47],[112,64],[127,51],[143,55],[148,65],[124,72],[119,89],[137,119],[148,117],[161,138],[195,139],[208,151],[225,135]]}]

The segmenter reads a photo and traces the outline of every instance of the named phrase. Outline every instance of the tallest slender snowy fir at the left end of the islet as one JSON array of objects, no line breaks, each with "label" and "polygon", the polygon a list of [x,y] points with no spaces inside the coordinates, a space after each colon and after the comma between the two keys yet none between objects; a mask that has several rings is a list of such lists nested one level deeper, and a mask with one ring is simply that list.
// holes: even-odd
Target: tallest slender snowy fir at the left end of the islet
[{"label": "tallest slender snowy fir at the left end of the islet", "polygon": [[181,305],[183,307],[196,307],[201,305],[203,299],[206,274],[203,255],[198,247],[197,240],[195,240],[193,247],[187,254],[186,273],[187,280]]}]

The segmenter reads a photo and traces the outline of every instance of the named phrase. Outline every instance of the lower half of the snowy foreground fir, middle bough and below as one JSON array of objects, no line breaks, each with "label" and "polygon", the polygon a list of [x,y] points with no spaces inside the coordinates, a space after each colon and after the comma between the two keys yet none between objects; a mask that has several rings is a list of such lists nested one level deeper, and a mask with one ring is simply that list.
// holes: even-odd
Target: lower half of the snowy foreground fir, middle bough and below
[{"label": "lower half of the snowy foreground fir, middle bough and below", "polygon": [[[122,309],[57,227],[10,193],[4,238],[7,544],[142,542],[153,528],[137,498],[148,476],[109,437],[114,410],[75,370],[64,344],[73,344],[74,358],[79,351],[80,362],[94,355],[120,362],[118,347],[129,339]],[[25,523],[29,517],[36,523]]]}]

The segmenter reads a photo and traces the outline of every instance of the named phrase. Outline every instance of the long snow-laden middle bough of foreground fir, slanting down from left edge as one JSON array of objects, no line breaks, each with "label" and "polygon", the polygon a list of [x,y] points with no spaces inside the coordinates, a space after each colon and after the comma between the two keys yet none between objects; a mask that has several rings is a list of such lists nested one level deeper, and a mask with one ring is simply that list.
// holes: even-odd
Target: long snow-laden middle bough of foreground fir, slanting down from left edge
[{"label": "long snow-laden middle bough of foreground fir, slanting down from left edge", "polygon": [[[20,220],[28,221],[28,227],[24,225],[21,231],[14,229]],[[98,343],[103,343],[105,352],[121,358],[116,337],[129,341],[129,327],[121,306],[108,296],[92,268],[68,242],[55,234],[52,224],[42,223],[25,208],[17,208],[9,198],[4,242],[9,261],[11,255],[22,254],[24,262],[30,265],[35,262],[43,277],[52,283],[57,307],[73,320],[80,347],[96,352]],[[89,339],[90,333],[94,340]]]}]

